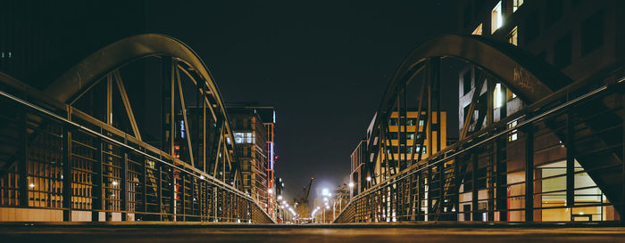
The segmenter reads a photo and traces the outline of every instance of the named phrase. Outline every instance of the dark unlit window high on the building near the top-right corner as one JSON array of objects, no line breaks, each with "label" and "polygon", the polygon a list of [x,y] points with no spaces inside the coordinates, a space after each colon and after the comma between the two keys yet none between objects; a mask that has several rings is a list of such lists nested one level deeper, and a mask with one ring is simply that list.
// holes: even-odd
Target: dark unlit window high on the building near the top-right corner
[{"label": "dark unlit window high on the building near the top-right corner", "polygon": [[604,44],[604,13],[596,12],[581,24],[581,55]]}]

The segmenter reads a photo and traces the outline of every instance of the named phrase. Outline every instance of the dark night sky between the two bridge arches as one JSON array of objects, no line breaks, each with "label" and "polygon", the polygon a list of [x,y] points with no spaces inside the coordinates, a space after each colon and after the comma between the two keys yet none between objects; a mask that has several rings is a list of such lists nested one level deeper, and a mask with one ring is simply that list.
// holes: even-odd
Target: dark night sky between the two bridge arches
[{"label": "dark night sky between the two bridge arches", "polygon": [[190,45],[224,101],[276,107],[289,196],[347,179],[397,65],[457,26],[455,1],[179,2],[147,1],[148,30]]}]

